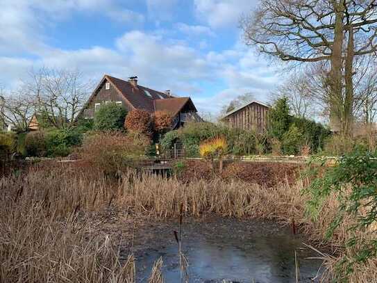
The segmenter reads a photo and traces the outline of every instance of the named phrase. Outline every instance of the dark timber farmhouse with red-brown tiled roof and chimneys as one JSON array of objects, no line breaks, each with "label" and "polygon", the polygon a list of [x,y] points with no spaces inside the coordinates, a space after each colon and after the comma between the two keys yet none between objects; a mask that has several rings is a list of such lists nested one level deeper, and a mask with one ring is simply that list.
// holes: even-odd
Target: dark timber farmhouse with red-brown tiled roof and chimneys
[{"label": "dark timber farmhouse with red-brown tiled roof and chimneys", "polygon": [[137,76],[124,81],[107,74],[94,89],[78,117],[93,118],[95,111],[109,102],[123,105],[128,111],[133,109],[142,109],[150,113],[165,111],[171,115],[173,129],[181,127],[185,122],[201,121],[190,97],[174,97],[169,90],[159,92],[140,86],[137,83]]}]

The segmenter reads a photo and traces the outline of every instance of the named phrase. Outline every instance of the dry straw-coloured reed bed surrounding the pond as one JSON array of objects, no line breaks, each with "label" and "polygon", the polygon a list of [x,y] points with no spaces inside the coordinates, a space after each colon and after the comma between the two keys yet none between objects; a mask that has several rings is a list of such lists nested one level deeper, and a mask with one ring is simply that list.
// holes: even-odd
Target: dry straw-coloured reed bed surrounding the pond
[{"label": "dry straw-coloured reed bed surrounding the pond", "polygon": [[[273,188],[242,181],[198,179],[182,184],[174,178],[126,172],[118,179],[64,167],[31,169],[0,179],[0,282],[135,282],[132,255],[120,259],[119,245],[105,233],[92,233],[86,211],[120,207],[131,216],[153,218],[216,214],[235,218],[274,219],[297,228],[313,241],[324,238],[336,213],[334,195],[319,217],[305,216],[303,183]],[[351,219],[337,229],[333,245],[348,238]],[[339,258],[324,257],[326,279]],[[158,261],[149,282],[163,282]],[[377,261],[358,266],[351,282],[374,282]]]}]

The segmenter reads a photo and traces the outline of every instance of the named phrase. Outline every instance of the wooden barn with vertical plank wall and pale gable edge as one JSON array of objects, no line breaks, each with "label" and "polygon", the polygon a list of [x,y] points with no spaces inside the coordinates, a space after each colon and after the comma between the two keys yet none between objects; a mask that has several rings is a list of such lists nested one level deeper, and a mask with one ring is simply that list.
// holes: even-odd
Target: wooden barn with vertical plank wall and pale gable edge
[{"label": "wooden barn with vertical plank wall and pale gable edge", "polygon": [[267,127],[269,108],[262,102],[249,102],[226,113],[222,120],[232,128],[262,132]]}]

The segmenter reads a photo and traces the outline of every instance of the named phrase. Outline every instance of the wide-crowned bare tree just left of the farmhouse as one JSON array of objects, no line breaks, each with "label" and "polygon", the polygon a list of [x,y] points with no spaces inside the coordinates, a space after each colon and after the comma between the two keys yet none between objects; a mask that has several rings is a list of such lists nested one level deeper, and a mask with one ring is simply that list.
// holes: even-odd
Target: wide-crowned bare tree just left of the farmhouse
[{"label": "wide-crowned bare tree just left of the farmhouse", "polygon": [[42,68],[30,74],[31,81],[26,86],[31,97],[35,97],[35,111],[53,127],[73,127],[92,83],[83,81],[83,74],[78,71]]}]

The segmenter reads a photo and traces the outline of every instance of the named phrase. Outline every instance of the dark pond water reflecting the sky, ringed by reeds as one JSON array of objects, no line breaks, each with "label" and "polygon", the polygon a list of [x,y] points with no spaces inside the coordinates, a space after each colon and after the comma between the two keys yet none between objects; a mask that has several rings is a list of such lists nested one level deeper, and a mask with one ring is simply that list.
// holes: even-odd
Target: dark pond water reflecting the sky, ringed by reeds
[{"label": "dark pond water reflecting the sky, ringed by reeds", "polygon": [[[137,282],[147,282],[153,262],[162,257],[165,282],[180,282],[176,223],[138,231],[133,247]],[[276,223],[229,218],[185,220],[182,251],[188,261],[190,282],[296,282],[294,251],[299,261],[299,282],[313,282],[321,261],[303,245],[305,238]]]}]

